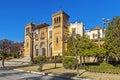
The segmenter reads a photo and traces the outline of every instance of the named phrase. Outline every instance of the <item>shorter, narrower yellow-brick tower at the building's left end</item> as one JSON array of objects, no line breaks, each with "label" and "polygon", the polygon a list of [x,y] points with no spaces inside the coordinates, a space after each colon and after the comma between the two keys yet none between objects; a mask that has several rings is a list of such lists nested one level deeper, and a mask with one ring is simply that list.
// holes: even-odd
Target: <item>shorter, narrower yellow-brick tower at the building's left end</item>
[{"label": "shorter, narrower yellow-brick tower at the building's left end", "polygon": [[30,23],[27,24],[25,26],[25,43],[24,43],[24,48],[25,48],[25,55],[24,56],[29,56],[30,54],[32,54],[32,50],[33,50],[33,27],[35,26],[35,24]]}]

